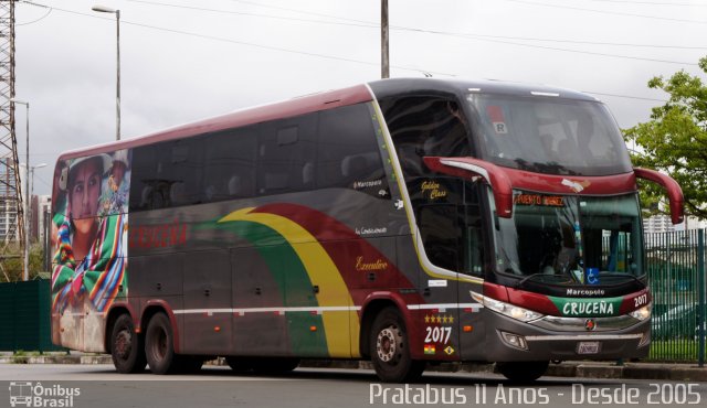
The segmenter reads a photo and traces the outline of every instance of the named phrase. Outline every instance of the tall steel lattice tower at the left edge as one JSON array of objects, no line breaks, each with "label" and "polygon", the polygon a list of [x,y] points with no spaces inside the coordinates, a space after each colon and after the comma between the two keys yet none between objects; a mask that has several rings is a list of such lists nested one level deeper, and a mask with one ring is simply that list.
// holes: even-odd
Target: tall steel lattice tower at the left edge
[{"label": "tall steel lattice tower at the left edge", "polygon": [[10,280],[6,261],[19,258],[24,251],[27,234],[14,103],[11,101],[14,98],[14,3],[15,0],[0,0],[0,271],[6,280]]}]

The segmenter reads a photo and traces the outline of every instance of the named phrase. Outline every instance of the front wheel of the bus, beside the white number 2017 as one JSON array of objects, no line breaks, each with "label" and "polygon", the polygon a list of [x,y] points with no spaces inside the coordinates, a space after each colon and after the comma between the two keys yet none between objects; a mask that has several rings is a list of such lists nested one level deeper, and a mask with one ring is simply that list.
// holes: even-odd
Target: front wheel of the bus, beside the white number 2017
[{"label": "front wheel of the bus, beside the white number 2017", "polygon": [[376,316],[369,344],[373,368],[383,382],[414,382],[424,371],[424,362],[410,356],[405,325],[395,308],[383,309]]}]

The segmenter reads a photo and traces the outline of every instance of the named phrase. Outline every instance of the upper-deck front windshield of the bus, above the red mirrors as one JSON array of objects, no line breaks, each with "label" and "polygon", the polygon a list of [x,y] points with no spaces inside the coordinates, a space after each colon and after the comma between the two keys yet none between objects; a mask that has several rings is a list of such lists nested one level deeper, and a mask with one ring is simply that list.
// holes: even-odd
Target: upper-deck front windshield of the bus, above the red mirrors
[{"label": "upper-deck front windshield of the bus, above the red mirrors", "polygon": [[631,172],[615,121],[597,101],[469,94],[484,160],[548,174]]}]

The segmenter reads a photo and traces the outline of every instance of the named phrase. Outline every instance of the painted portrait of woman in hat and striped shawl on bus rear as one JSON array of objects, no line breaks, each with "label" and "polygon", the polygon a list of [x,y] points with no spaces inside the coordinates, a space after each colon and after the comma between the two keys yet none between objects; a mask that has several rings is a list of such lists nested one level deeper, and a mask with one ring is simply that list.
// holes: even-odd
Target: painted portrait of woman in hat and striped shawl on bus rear
[{"label": "painted portrait of woman in hat and striped shawl on bus rear", "polygon": [[[125,194],[129,185],[127,157],[119,151],[66,161],[65,208],[53,218],[52,337],[67,347],[101,351],[101,316],[118,292],[127,293],[127,214],[120,206],[105,211],[117,200],[110,192]],[[113,189],[118,173],[124,186]]]}]

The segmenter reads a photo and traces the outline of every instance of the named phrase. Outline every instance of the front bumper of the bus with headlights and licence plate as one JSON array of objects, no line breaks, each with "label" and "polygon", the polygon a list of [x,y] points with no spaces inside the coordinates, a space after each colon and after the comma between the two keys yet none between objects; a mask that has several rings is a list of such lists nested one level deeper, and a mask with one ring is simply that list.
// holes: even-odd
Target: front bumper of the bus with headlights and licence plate
[{"label": "front bumper of the bus with headlights and licence plate", "polygon": [[592,330],[547,330],[485,312],[489,323],[485,350],[488,362],[640,358],[650,351],[650,320],[602,330],[605,320],[598,318]]}]

